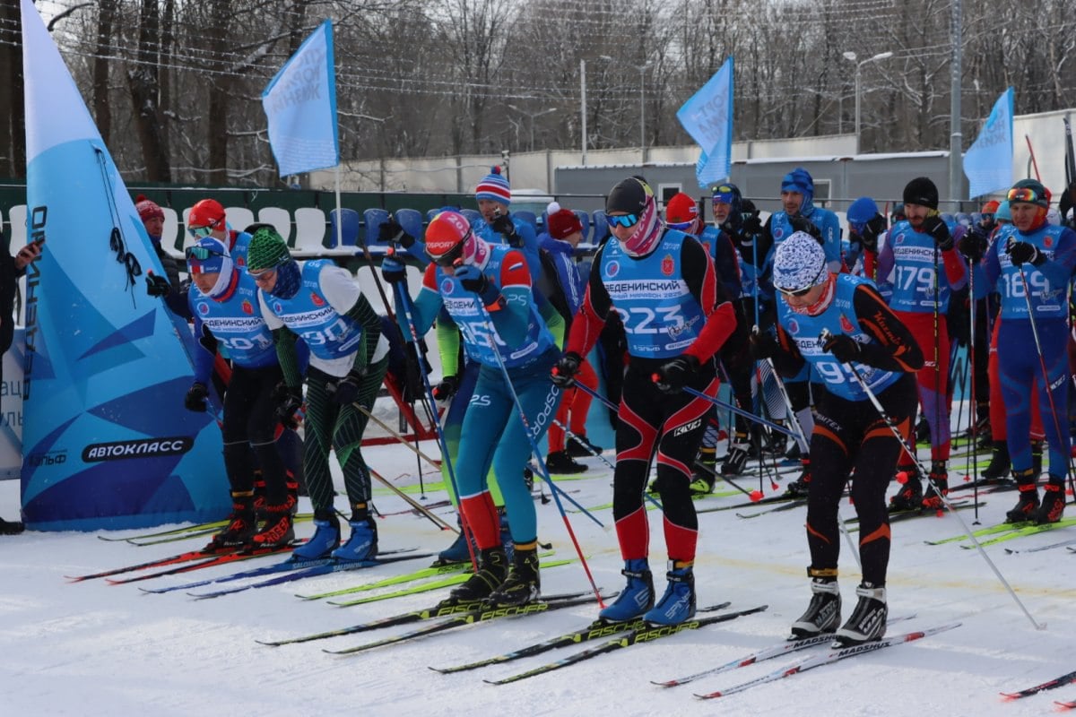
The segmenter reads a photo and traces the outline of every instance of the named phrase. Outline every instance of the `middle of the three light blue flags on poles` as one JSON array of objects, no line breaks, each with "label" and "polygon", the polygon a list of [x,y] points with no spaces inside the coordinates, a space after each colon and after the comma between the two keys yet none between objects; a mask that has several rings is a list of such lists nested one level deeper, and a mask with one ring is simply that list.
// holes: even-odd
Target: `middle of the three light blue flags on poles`
[{"label": "middle of the three light blue flags on poles", "polygon": [[705,189],[726,178],[733,156],[732,57],[677,110],[676,116],[703,149],[695,166],[698,186]]}]

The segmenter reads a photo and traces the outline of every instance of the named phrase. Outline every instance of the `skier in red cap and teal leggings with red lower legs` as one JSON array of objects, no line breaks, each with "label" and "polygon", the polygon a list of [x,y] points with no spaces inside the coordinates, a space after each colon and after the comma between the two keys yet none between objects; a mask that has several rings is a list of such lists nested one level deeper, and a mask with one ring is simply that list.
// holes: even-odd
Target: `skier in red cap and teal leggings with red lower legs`
[{"label": "skier in red cap and teal leggings with red lower legs", "polygon": [[[522,250],[491,244],[472,231],[462,214],[441,212],[426,228],[426,253],[433,263],[426,267],[413,301],[415,331],[420,335],[428,331],[443,307],[459,327],[468,357],[481,367],[463,419],[454,471],[459,506],[479,548],[478,571],[452,591],[451,599],[532,602],[540,594],[537,515],[523,478],[532,448],[512,391],[526,414],[530,435],[539,440],[560,400],[560,392],[544,379],[558,349],[539,316]],[[396,285],[397,316],[404,316],[404,264],[388,256],[382,274]],[[487,486],[491,467],[505,498],[514,544],[510,571],[500,516]]]}]

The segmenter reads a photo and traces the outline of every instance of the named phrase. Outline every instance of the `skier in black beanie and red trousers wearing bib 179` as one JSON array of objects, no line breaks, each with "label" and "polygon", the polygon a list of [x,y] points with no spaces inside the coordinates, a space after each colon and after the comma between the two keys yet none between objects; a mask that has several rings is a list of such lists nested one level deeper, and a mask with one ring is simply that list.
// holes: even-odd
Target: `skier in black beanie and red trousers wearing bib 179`
[{"label": "skier in black beanie and red trousers wearing bib 179", "polygon": [[897,470],[903,470],[907,479],[893,496],[890,507],[939,510],[943,502],[936,491],[949,492],[946,464],[951,438],[947,314],[950,293],[967,285],[967,266],[955,249],[951,229],[938,213],[938,190],[930,177],[916,177],[904,187],[904,214],[907,218],[889,230],[878,253],[878,275],[888,276],[895,270],[890,306],[916,336],[925,356],[917,378],[919,402],[930,426],[932,462],[930,487],[923,496],[915,461],[907,456],[897,461]]}]

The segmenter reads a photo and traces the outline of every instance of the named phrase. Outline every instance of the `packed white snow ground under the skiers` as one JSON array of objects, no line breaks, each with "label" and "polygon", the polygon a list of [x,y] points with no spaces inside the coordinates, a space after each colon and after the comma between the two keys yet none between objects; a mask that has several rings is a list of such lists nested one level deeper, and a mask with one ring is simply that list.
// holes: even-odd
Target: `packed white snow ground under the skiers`
[{"label": "packed white snow ground under the skiers", "polygon": [[[436,455],[437,446],[425,443],[423,449]],[[415,455],[407,448],[390,445],[364,453],[372,467],[397,485],[416,483]],[[611,458],[611,451],[607,450],[606,456]],[[578,490],[571,497],[583,505],[609,502],[611,471],[596,458],[583,462],[590,467],[585,477],[558,485]],[[437,479],[428,468],[424,471],[427,481]],[[754,488],[758,477],[745,477],[741,483]],[[406,507],[377,484],[376,488],[381,511]],[[727,487],[719,484],[718,490],[724,489]],[[15,515],[17,497],[17,482],[0,482],[0,515]],[[428,502],[440,498],[443,493],[427,493]],[[698,506],[733,504],[741,498],[711,497]],[[989,526],[1003,519],[1015,502],[1015,493],[987,494],[982,500],[987,504],[979,512],[979,520]],[[339,507],[343,502],[338,501]],[[537,505],[541,539],[554,544],[558,557],[574,556],[556,505]],[[301,508],[309,510],[306,500]],[[452,520],[450,510],[437,512]],[[651,685],[651,679],[698,672],[783,640],[790,622],[809,599],[804,512],[797,507],[753,519],[739,518],[735,511],[699,516],[699,604],[728,600],[733,610],[768,604],[766,612],[500,687],[486,685],[482,678],[512,675],[581,648],[451,675],[431,672],[427,666],[489,657],[581,627],[596,616],[596,605],[508,618],[405,645],[337,657],[326,655],[322,648],[357,645],[404,628],[275,648],[259,645],[255,639],[318,632],[433,604],[445,590],[355,607],[295,597],[408,572],[428,560],[247,590],[214,600],[194,600],[181,591],[144,594],[136,586],[186,583],[207,577],[209,570],[119,586],[102,580],[69,584],[63,576],[196,548],[204,541],[201,537],[151,547],[103,542],[93,534],[73,532],[2,537],[0,714],[151,712],[166,717],[821,713],[951,717],[1042,715],[1053,709],[1056,699],[1076,699],[1076,684],[1013,703],[999,696],[1076,669],[1076,555],[1064,547],[1016,555],[1004,549],[1076,539],[1076,528],[986,548],[1034,618],[1047,625],[1045,630],[1035,630],[976,551],[962,549],[959,544],[924,544],[925,540],[962,532],[953,516],[928,516],[893,525],[890,614],[916,617],[892,626],[890,633],[952,621],[962,622],[960,628],[716,701],[696,700],[692,691],[731,687],[818,654],[821,648],[683,687],[663,689]],[[1070,508],[1070,513],[1076,510]],[[853,512],[845,504],[841,514],[848,518]],[[606,530],[580,514],[570,513],[569,517],[597,583],[611,591],[623,582],[619,574],[621,561],[611,512],[606,508],[597,515]],[[664,539],[660,514],[652,511],[650,516],[651,564],[655,578],[660,578]],[[968,524],[975,519],[972,511],[963,511],[960,516]],[[413,515],[386,517],[379,527],[384,549],[414,546],[436,553],[452,537]],[[310,530],[309,522],[298,526],[300,536]],[[854,604],[860,575],[847,544],[843,547],[840,584],[847,616]],[[254,564],[279,559],[260,558]],[[223,574],[236,568],[216,570]],[[663,579],[655,582],[664,584]],[[584,590],[589,583],[577,561],[543,571],[542,587],[553,593]]]}]

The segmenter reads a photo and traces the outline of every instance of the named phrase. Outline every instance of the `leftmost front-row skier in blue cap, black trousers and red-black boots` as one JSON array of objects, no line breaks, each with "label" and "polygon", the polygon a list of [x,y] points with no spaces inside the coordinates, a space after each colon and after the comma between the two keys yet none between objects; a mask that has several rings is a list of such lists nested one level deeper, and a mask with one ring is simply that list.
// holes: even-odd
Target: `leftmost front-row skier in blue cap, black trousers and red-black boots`
[{"label": "leftmost front-row skier in blue cap, black trousers and red-black boots", "polygon": [[[297,496],[288,491],[287,471],[277,449],[273,390],[283,381],[272,334],[253,314],[257,286],[212,236],[187,247],[187,271],[195,288],[187,292],[195,336],[204,350],[195,354],[195,381],[183,400],[188,411],[204,412],[217,345],[231,359],[224,395],[224,467],[231,488],[228,525],[207,550],[246,545],[282,547],[295,539],[292,513]],[[300,344],[300,362],[307,358]],[[256,460],[256,463],[255,463]],[[255,469],[265,482],[264,502],[255,510]],[[258,521],[261,528],[258,529]]]}]

